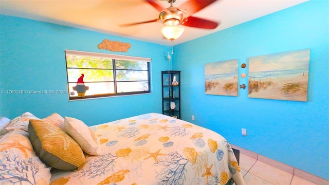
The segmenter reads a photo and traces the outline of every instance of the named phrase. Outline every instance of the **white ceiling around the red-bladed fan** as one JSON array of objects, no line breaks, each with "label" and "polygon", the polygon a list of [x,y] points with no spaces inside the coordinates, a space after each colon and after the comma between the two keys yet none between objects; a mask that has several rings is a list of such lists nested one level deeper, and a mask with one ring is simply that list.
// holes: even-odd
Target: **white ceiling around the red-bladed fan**
[{"label": "white ceiling around the red-bladed fan", "polygon": [[[179,8],[182,2],[173,4]],[[207,0],[204,0],[207,1]],[[214,30],[186,27],[173,45],[220,31],[308,0],[218,0],[193,14],[220,23]],[[170,4],[155,0],[162,7]],[[159,12],[144,0],[0,0],[0,13],[32,20],[92,30],[126,38],[171,45],[163,39],[161,22],[119,27],[120,24],[154,20]],[[104,38],[106,39],[106,38]]]}]

